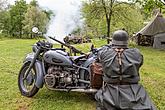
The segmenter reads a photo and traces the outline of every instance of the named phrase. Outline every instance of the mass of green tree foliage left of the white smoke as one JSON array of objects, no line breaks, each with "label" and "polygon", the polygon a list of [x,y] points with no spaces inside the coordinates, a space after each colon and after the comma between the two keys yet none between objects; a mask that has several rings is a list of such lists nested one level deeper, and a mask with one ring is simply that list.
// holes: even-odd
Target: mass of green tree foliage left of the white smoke
[{"label": "mass of green tree foliage left of the white smoke", "polygon": [[[0,9],[3,6],[1,1]],[[37,26],[45,33],[51,16],[52,12],[40,8],[36,0],[30,4],[25,0],[17,0],[8,9],[0,10],[0,32],[16,38],[33,38],[32,27]]]}]

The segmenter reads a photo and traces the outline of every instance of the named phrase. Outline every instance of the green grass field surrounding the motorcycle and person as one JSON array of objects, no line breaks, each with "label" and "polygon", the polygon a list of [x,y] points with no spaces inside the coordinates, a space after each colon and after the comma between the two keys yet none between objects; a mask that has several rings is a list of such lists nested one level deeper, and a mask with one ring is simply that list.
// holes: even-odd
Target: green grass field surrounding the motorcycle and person
[{"label": "green grass field surrounding the motorcycle and person", "polygon": [[[31,52],[35,40],[0,40],[0,110],[95,110],[95,102],[83,93],[65,93],[40,89],[33,98],[20,95],[17,77],[22,60]],[[104,41],[94,41],[99,47]],[[76,45],[89,51],[91,44]],[[141,83],[158,110],[165,110],[165,51],[138,47],[144,55]]]}]

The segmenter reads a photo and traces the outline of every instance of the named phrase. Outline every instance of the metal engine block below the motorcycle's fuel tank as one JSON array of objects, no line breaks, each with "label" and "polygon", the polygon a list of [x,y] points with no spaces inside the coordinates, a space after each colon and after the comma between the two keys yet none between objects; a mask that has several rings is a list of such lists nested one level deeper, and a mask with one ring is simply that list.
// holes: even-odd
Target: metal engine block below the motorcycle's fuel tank
[{"label": "metal engine block below the motorcycle's fuel tank", "polygon": [[73,81],[71,72],[62,69],[60,66],[49,67],[47,73],[44,78],[46,85],[50,88],[64,87]]}]

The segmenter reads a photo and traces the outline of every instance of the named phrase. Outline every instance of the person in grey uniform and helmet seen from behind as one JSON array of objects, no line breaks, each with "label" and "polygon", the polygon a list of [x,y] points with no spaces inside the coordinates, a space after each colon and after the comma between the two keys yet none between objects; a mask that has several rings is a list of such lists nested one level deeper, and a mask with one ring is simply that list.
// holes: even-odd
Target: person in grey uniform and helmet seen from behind
[{"label": "person in grey uniform and helmet seen from behind", "polygon": [[111,46],[98,53],[103,66],[104,86],[96,93],[97,110],[156,110],[144,87],[139,84],[143,56],[128,48],[128,33],[115,31]]}]

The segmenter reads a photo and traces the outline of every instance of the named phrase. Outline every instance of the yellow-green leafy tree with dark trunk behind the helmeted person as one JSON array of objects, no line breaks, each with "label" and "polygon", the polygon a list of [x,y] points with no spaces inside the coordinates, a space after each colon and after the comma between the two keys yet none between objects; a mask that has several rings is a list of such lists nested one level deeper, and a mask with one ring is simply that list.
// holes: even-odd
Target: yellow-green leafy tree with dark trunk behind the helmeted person
[{"label": "yellow-green leafy tree with dark trunk behind the helmeted person", "polygon": [[[100,33],[99,31],[102,34],[106,32],[107,37],[110,37],[112,30],[125,28],[132,33],[135,31],[133,26],[136,29],[139,28],[143,22],[143,17],[138,10],[139,8],[133,3],[117,0],[93,0],[85,2],[82,8],[87,26],[92,27],[95,31],[97,30],[98,33]],[[130,27],[133,27],[133,29]]]}]

